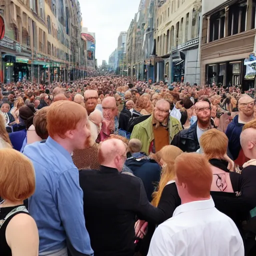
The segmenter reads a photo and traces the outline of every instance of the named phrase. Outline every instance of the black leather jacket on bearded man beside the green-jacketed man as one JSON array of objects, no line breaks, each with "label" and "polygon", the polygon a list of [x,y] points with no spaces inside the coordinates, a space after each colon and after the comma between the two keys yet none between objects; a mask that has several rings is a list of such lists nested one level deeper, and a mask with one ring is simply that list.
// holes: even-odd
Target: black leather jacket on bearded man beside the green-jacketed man
[{"label": "black leather jacket on bearded man beside the green-jacketed man", "polygon": [[197,133],[197,121],[188,129],[179,131],[172,139],[171,145],[179,147],[184,152],[195,152],[200,148]]}]

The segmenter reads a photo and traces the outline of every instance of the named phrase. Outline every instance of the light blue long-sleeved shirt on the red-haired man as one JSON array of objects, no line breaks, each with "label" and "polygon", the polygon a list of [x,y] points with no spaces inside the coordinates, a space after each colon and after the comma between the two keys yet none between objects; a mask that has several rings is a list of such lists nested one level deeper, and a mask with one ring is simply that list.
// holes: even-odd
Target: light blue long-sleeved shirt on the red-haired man
[{"label": "light blue long-sleeved shirt on the red-haired man", "polygon": [[28,208],[39,231],[39,253],[65,248],[68,238],[76,251],[93,254],[85,228],[78,169],[69,152],[48,137],[45,143],[25,146],[23,153],[35,169],[35,192]]}]

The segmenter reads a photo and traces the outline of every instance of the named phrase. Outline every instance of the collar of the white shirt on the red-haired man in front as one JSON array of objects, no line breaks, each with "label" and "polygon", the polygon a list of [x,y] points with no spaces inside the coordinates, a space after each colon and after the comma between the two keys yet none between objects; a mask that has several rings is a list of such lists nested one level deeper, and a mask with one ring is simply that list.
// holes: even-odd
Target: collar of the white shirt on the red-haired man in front
[{"label": "collar of the white shirt on the red-haired man in front", "polygon": [[186,211],[202,210],[215,207],[213,199],[187,202],[179,205],[173,212],[173,216]]}]

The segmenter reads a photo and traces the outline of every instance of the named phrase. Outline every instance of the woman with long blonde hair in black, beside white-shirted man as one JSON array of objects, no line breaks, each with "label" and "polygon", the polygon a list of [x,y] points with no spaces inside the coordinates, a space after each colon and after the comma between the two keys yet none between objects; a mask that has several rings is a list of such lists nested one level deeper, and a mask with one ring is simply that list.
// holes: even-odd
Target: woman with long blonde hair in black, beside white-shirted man
[{"label": "woman with long blonde hair in black, beside white-shirted man", "polygon": [[[157,190],[152,194],[153,200],[151,203],[155,207],[159,207],[166,212],[165,219],[163,219],[163,221],[172,217],[175,208],[181,204],[174,181],[174,161],[176,157],[182,153],[183,151],[181,149],[173,145],[164,146],[156,153],[155,159],[160,159],[159,164],[162,167],[162,171]],[[135,234],[139,238],[143,238],[147,227],[147,233],[143,238],[140,249],[141,255],[147,254],[150,240],[155,230],[155,224],[160,223],[147,224],[147,222],[143,220],[138,220],[135,224]]]}]

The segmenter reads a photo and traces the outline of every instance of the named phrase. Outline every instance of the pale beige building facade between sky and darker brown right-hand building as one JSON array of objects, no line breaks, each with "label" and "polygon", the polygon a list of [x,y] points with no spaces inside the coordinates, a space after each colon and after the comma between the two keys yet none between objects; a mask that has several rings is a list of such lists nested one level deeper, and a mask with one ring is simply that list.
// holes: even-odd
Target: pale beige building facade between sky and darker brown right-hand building
[{"label": "pale beige building facade between sky and darker brown right-hand building", "polygon": [[200,80],[201,0],[141,0],[127,32],[128,75]]}]

